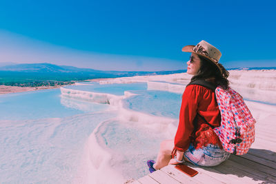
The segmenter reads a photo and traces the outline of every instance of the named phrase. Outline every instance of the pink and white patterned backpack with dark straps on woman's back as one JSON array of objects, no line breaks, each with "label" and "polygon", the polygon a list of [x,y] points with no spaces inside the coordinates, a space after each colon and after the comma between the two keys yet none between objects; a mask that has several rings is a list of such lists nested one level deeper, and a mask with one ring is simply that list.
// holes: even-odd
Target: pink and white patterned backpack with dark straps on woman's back
[{"label": "pink and white patterned backpack with dark straps on woman's back", "polygon": [[227,90],[220,86],[216,88],[213,83],[204,80],[193,81],[190,84],[202,85],[215,90],[221,114],[221,125],[213,127],[207,121],[206,123],[219,136],[221,145],[226,152],[237,155],[246,154],[255,141],[256,121],[244,103],[242,96],[231,88]]}]

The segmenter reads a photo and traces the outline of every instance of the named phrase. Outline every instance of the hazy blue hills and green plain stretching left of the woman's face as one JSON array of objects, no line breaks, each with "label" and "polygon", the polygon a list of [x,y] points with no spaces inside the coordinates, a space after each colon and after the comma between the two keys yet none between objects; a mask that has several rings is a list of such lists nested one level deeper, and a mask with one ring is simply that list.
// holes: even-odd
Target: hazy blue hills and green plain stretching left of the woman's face
[{"label": "hazy blue hills and green plain stretching left of the woman's face", "polygon": [[101,71],[50,63],[15,64],[0,67],[0,85],[40,86],[87,79],[136,75],[175,74],[186,70],[160,72]]}]

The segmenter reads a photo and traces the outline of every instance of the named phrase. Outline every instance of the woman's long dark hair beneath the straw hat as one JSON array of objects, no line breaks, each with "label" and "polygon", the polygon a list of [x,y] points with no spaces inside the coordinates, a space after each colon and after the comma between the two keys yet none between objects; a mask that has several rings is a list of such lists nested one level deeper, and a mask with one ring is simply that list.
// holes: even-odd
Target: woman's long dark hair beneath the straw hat
[{"label": "woman's long dark hair beneath the straw hat", "polygon": [[200,68],[195,76],[190,79],[193,82],[197,79],[213,79],[215,78],[215,85],[220,85],[222,88],[227,89],[229,86],[228,76],[229,72],[224,68],[221,63],[218,63],[219,68],[221,68],[222,73],[213,61],[210,61],[206,57],[198,55],[200,59]]}]

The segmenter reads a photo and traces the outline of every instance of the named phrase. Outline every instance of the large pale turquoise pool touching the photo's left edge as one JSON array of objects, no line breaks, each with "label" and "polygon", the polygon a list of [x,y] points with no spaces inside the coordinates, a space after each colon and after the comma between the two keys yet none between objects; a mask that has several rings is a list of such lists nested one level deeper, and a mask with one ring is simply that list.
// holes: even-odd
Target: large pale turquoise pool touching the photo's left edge
[{"label": "large pale turquoise pool touching the photo's left edge", "polygon": [[[70,99],[70,101],[74,101]],[[78,108],[66,106],[61,101],[59,89],[39,90],[34,92],[21,92],[15,94],[0,95],[1,120],[27,120],[62,118],[84,112],[99,112],[108,108],[108,105],[78,102],[89,108],[79,110]]]}]

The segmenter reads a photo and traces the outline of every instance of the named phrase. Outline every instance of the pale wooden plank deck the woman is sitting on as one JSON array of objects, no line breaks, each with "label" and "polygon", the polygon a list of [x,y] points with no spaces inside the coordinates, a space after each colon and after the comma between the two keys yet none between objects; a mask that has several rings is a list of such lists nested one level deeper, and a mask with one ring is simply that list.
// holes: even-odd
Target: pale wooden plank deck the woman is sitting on
[{"label": "pale wooden plank deck the woman is sitting on", "polygon": [[276,108],[264,106],[262,108],[268,108],[268,113],[264,110],[263,114],[255,114],[258,116],[256,137],[248,154],[231,155],[215,167],[199,167],[186,162],[199,172],[194,177],[168,165],[132,183],[276,183]]}]

